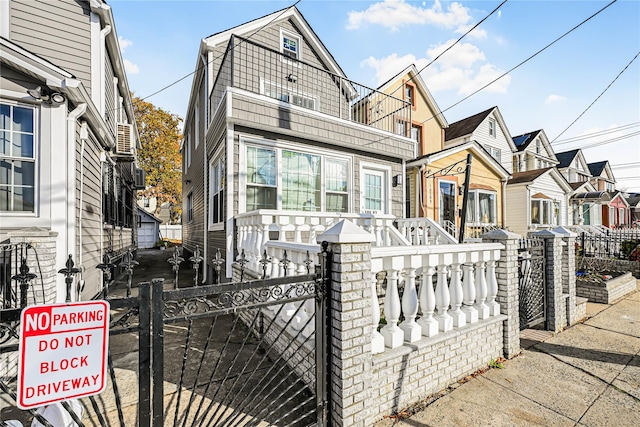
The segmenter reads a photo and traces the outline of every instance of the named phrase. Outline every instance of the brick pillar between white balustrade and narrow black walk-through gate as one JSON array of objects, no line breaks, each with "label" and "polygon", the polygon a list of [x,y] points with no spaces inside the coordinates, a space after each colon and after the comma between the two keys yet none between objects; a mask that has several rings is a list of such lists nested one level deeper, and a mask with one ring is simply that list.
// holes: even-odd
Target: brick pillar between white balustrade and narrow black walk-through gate
[{"label": "brick pillar between white balustrade and narrow black walk-through gate", "polygon": [[493,230],[482,236],[483,243],[502,243],[500,260],[496,263],[500,313],[507,316],[503,322],[503,353],[510,359],[520,353],[520,298],[518,295],[518,234],[506,230]]}]

